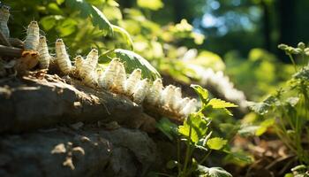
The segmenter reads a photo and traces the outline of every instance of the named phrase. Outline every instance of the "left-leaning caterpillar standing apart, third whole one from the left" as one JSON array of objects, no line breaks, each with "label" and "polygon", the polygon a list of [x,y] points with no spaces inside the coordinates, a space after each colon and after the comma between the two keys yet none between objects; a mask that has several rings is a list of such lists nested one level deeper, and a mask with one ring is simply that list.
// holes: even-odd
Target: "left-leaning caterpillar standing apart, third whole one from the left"
[{"label": "left-leaning caterpillar standing apart, third whole one from the left", "polygon": [[72,63],[68,53],[65,50],[65,45],[62,39],[57,39],[56,42],[57,65],[64,74],[72,72]]}]

